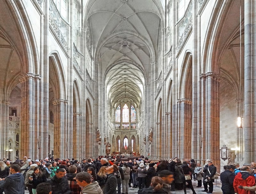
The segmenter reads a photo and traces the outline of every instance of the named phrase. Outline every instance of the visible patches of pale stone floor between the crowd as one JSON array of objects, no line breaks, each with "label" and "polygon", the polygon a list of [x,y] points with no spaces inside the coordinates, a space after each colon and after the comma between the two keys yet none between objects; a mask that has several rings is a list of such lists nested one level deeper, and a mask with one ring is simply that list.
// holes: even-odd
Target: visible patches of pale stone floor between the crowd
[{"label": "visible patches of pale stone floor between the crowd", "polygon": [[[197,194],[206,194],[206,192],[203,192],[201,190],[204,190],[204,186],[202,186],[201,188],[197,188],[197,181],[192,180],[192,184],[193,187],[196,191]],[[129,188],[129,194],[137,194],[139,188]],[[25,190],[25,193],[28,194],[28,191]],[[192,194],[191,189],[187,189],[187,193]],[[171,191],[171,194],[184,194],[183,190],[175,190],[175,191]],[[222,190],[221,190],[221,183],[220,180],[215,180],[215,183],[213,184],[213,194],[222,194]]]}]

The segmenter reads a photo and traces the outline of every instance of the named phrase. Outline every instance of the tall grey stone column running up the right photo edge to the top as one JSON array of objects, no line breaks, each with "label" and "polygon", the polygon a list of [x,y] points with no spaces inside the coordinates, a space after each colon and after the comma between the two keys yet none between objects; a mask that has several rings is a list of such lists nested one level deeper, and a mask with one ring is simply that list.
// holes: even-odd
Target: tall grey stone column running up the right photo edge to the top
[{"label": "tall grey stone column running up the right photo edge to the top", "polygon": [[244,162],[256,161],[256,7],[244,0]]}]

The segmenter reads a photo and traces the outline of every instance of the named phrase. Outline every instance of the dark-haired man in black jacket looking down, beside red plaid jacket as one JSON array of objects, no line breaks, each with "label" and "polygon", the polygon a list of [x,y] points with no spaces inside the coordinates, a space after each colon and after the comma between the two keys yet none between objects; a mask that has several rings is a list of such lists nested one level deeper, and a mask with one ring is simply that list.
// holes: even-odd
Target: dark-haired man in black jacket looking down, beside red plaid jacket
[{"label": "dark-haired man in black jacket looking down, beside red plaid jacket", "polygon": [[71,190],[68,185],[68,180],[65,177],[65,169],[57,169],[55,175],[48,180],[52,185],[52,194],[70,194]]}]

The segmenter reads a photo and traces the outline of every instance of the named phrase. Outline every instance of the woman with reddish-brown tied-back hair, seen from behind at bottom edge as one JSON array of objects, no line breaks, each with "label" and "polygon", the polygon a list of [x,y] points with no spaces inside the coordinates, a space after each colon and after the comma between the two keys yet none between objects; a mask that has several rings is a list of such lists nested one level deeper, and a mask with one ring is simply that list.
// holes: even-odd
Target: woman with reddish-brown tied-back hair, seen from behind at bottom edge
[{"label": "woman with reddish-brown tied-back hair, seen from behind at bottom edge", "polygon": [[151,185],[148,188],[138,190],[138,194],[167,194],[168,192],[163,189],[164,181],[159,176],[154,176],[151,180]]}]

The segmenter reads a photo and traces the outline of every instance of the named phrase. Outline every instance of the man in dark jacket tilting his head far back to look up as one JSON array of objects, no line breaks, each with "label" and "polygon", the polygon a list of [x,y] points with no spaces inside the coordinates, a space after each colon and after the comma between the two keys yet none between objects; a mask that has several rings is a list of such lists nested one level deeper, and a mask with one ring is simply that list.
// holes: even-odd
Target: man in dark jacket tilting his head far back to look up
[{"label": "man in dark jacket tilting his head far back to look up", "polygon": [[106,178],[104,194],[116,194],[117,179],[115,172],[118,171],[116,164],[106,168],[108,176]]}]

